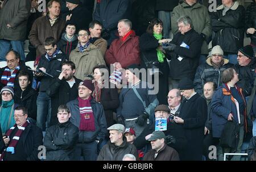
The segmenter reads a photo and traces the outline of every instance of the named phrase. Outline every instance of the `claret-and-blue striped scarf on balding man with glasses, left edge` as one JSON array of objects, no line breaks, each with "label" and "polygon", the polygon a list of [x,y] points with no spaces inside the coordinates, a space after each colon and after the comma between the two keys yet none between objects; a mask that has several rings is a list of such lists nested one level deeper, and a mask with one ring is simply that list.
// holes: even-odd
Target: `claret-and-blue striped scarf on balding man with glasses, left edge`
[{"label": "claret-and-blue striped scarf on balding man with glasses, left edge", "polygon": [[19,71],[19,68],[20,66],[17,66],[13,71],[13,74],[11,74],[11,70],[9,69],[9,67],[6,67],[1,77],[1,83],[14,88],[15,77],[17,72]]}]

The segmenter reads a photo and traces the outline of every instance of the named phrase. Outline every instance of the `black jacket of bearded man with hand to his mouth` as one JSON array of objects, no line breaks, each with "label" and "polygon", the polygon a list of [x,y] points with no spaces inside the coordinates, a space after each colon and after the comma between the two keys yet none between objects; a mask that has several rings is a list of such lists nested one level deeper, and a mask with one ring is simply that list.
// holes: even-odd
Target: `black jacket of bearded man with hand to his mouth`
[{"label": "black jacket of bearded man with hand to his mouth", "polygon": [[78,87],[79,83],[82,81],[77,79],[75,76],[76,83],[72,88],[69,87],[69,84],[65,80],[60,80],[56,78],[52,80],[52,83],[49,85],[46,93],[51,97],[51,121],[50,126],[57,124],[57,112],[60,105],[65,105],[67,102],[74,100],[78,97]]}]

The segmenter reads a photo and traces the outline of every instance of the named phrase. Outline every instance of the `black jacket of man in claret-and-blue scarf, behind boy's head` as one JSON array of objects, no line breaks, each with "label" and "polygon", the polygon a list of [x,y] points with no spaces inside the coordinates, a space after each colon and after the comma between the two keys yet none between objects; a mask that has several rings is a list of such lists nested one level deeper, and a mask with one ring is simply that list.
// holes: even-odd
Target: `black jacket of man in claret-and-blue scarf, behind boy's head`
[{"label": "black jacket of man in claret-and-blue scarf, behind boy's head", "polygon": [[[19,66],[20,66],[19,71],[16,73],[15,80],[14,80],[14,92],[16,91],[16,89],[20,89],[19,88],[19,79],[18,79],[18,75],[19,75],[20,71],[26,71],[28,73],[29,77],[30,77],[30,81],[32,81],[32,78],[33,78],[32,71],[28,70],[28,68],[30,68],[30,67],[26,66],[24,61],[20,61]],[[0,80],[1,80],[2,75],[3,75],[3,71],[5,71],[6,67],[3,67],[3,68],[0,69]],[[2,89],[5,86],[6,85],[1,83],[1,81],[0,81],[0,89]],[[31,83],[28,86],[31,87]]]}]

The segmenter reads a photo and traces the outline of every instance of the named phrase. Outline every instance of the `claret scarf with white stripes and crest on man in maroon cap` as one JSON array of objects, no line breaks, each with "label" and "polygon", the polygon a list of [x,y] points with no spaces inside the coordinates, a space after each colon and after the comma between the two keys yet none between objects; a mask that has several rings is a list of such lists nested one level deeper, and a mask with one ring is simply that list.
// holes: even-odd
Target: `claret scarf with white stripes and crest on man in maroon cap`
[{"label": "claret scarf with white stripes and crest on man in maroon cap", "polygon": [[90,101],[92,96],[87,100],[82,100],[80,97],[77,98],[79,101],[79,111],[80,111],[80,131],[95,131],[94,115],[92,110],[92,105]]}]

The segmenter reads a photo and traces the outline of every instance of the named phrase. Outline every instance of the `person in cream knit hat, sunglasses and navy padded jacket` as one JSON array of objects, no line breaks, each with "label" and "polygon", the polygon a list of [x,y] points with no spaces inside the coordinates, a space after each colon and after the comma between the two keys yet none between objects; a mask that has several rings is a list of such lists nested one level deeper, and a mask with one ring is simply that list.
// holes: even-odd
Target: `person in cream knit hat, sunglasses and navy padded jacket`
[{"label": "person in cream knit hat, sunglasses and navy padded jacket", "polygon": [[230,68],[233,65],[229,63],[229,60],[224,58],[224,52],[220,45],[216,45],[210,52],[210,57],[207,58],[205,63],[197,67],[196,75],[194,79],[195,91],[203,96],[204,84],[212,81],[218,86],[222,84],[221,75],[226,68]]}]

